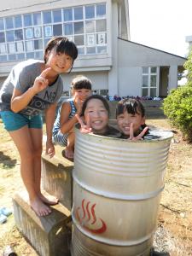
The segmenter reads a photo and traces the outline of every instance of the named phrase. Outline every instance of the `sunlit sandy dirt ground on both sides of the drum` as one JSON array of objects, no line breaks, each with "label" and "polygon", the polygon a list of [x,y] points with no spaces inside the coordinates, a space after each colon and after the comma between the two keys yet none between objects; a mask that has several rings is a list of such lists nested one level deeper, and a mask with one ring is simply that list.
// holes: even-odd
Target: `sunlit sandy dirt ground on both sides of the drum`
[{"label": "sunlit sandy dirt ground on both sides of the drum", "polygon": [[[189,256],[192,255],[192,145],[183,141],[181,133],[171,128],[166,119],[148,119],[147,123],[174,131],[154,248],[171,256]],[[12,195],[22,189],[19,155],[0,119],[0,207],[12,208]],[[14,214],[7,223],[0,224],[0,255],[7,245],[13,246],[20,256],[38,255],[16,229]]]}]

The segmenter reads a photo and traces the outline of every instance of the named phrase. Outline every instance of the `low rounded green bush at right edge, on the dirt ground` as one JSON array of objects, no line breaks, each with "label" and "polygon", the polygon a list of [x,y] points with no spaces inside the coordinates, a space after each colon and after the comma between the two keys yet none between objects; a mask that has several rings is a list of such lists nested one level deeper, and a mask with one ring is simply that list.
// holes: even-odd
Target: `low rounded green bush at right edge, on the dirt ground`
[{"label": "low rounded green bush at right edge, on the dirt ground", "polygon": [[172,125],[192,143],[192,86],[187,84],[172,90],[164,100],[163,110]]}]

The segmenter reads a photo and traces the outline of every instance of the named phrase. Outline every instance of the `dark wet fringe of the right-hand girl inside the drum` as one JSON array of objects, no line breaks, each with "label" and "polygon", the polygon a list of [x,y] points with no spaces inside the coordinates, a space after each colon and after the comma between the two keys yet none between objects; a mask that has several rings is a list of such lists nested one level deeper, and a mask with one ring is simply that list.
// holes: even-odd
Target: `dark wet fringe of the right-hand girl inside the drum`
[{"label": "dark wet fringe of the right-hand girl inside the drum", "polygon": [[142,117],[145,116],[145,109],[143,107],[142,102],[137,101],[136,99],[124,99],[117,104],[116,108],[116,117],[124,113],[125,110],[127,113],[132,113],[132,114],[141,114]]}]

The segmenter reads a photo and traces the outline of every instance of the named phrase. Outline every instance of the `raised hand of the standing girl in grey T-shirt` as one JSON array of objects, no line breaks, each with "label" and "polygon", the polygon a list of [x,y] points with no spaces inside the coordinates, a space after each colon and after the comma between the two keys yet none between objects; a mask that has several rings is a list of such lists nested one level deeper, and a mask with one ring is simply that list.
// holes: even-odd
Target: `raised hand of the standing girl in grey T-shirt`
[{"label": "raised hand of the standing girl in grey T-shirt", "polygon": [[51,67],[46,68],[34,81],[32,88],[35,90],[36,93],[44,90],[47,88],[49,84],[49,80],[47,76],[51,70]]}]

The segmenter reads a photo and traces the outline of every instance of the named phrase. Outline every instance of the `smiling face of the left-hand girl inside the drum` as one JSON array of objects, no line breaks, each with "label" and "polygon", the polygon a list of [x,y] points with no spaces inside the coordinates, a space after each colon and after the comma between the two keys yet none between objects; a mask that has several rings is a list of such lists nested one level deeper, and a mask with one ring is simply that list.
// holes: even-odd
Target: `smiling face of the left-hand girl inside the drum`
[{"label": "smiling face of the left-hand girl inside the drum", "polygon": [[90,123],[92,131],[96,134],[102,134],[107,131],[108,127],[108,110],[99,99],[90,99],[87,102],[84,111],[86,124]]}]

